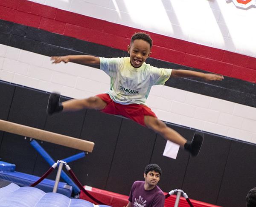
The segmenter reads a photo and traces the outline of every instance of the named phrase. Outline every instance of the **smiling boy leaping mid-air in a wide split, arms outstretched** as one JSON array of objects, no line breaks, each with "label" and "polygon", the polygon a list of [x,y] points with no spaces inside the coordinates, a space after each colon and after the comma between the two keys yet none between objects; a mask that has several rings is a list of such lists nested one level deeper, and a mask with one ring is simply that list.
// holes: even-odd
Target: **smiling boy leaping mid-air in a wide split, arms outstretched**
[{"label": "smiling boy leaping mid-air in a wide split, arms outstretched", "polygon": [[52,57],[52,63],[71,61],[82,64],[99,64],[100,69],[110,76],[111,83],[110,89],[105,94],[87,99],[71,99],[59,103],[60,94],[52,93],[49,96],[47,113],[51,115],[59,111],[78,111],[87,108],[122,115],[180,145],[192,156],[197,156],[203,143],[203,137],[195,134],[191,142],[187,141],[175,130],[157,119],[154,112],[145,105],[145,101],[151,87],[164,85],[170,76],[199,77],[205,80],[222,80],[223,76],[153,67],[145,63],[151,54],[151,47],[152,40],[149,35],[140,32],[131,37],[131,43],[128,45],[130,57],[104,58],[91,55]]}]

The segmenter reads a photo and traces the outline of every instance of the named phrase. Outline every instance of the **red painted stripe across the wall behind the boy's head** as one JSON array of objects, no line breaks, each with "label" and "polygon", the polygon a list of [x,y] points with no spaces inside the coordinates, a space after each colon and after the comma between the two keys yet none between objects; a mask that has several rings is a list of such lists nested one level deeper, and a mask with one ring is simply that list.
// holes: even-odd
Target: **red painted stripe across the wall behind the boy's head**
[{"label": "red painted stripe across the wall behind the boy's head", "polygon": [[[134,32],[142,31],[28,0],[0,0],[0,19],[121,50]],[[145,32],[153,39],[151,57],[256,82],[254,57]]]}]

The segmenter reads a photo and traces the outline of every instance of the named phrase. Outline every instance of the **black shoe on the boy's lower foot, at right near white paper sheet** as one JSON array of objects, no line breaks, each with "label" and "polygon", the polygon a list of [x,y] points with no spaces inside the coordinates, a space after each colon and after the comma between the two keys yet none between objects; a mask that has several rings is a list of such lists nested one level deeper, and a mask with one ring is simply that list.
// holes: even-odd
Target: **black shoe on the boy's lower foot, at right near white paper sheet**
[{"label": "black shoe on the boy's lower foot, at right near white paper sheet", "polygon": [[192,157],[195,157],[199,154],[203,141],[204,141],[204,135],[195,133],[192,141],[186,142],[186,144],[184,145],[184,148],[190,152]]}]

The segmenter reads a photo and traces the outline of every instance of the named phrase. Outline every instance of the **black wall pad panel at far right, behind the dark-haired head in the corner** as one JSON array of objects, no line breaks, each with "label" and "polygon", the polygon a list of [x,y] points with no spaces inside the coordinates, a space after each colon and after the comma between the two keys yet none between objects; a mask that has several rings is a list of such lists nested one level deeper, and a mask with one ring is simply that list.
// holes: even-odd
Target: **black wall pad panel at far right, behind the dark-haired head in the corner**
[{"label": "black wall pad panel at far right, behind the dark-haired head in the corner", "polygon": [[256,146],[232,141],[217,205],[243,207],[248,191],[256,187]]}]

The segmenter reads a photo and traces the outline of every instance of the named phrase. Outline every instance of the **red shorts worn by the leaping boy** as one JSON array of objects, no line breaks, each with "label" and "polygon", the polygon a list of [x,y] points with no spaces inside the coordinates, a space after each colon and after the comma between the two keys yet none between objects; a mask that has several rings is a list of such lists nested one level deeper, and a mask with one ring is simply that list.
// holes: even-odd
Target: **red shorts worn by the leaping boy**
[{"label": "red shorts worn by the leaping boy", "polygon": [[154,116],[157,117],[150,108],[142,104],[128,104],[123,105],[116,102],[110,98],[108,94],[96,95],[103,101],[107,103],[107,106],[101,110],[101,112],[125,116],[140,125],[145,126],[144,116]]}]

